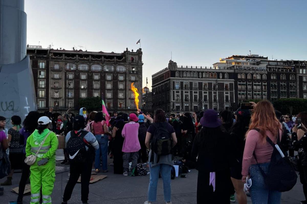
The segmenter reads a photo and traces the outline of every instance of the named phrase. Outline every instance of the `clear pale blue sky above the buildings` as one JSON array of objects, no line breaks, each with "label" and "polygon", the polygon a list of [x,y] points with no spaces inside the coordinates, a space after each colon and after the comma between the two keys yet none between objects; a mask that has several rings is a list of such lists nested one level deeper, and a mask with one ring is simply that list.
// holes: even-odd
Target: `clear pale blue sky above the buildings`
[{"label": "clear pale blue sky above the buildings", "polygon": [[306,7],[305,0],[25,0],[27,43],[122,52],[137,50],[141,39],[143,86],[148,77],[150,87],[171,52],[178,65],[189,66],[211,66],[249,50],[307,60]]}]

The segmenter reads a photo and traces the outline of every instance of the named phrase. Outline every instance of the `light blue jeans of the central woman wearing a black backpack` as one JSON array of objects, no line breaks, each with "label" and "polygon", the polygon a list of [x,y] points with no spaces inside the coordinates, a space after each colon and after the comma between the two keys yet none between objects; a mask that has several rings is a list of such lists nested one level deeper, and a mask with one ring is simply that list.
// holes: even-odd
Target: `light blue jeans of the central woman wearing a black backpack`
[{"label": "light blue jeans of the central woman wearing a black backpack", "polygon": [[171,201],[171,170],[172,166],[168,164],[158,164],[151,167],[151,162],[149,162],[150,170],[150,182],[148,187],[148,201],[155,202],[157,200],[157,185],[159,179],[159,172],[161,172],[163,180],[163,194],[164,201]]}]

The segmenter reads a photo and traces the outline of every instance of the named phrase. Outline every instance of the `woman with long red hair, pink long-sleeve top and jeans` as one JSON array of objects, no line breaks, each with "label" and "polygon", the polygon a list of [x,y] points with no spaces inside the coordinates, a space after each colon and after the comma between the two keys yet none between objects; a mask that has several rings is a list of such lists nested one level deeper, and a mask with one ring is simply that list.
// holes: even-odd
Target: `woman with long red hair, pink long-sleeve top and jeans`
[{"label": "woman with long red hair, pink long-sleeve top and jeans", "polygon": [[251,178],[249,190],[254,204],[278,204],[281,202],[281,192],[268,190],[258,165],[264,173],[268,172],[273,147],[266,141],[266,136],[276,144],[278,134],[282,135],[282,125],[275,116],[273,105],[267,100],[258,102],[252,113],[243,153],[242,181]]}]

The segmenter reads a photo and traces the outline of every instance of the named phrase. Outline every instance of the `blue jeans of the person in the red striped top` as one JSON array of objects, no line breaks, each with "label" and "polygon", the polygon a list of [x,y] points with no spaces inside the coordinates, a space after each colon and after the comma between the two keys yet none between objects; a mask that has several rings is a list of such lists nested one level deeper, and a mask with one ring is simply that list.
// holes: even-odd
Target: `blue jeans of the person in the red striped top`
[{"label": "blue jeans of the person in the red striped top", "polygon": [[96,150],[95,154],[95,169],[100,170],[100,153],[102,158],[102,170],[108,170],[107,159],[108,159],[108,136],[107,135],[95,135],[97,142],[99,143],[99,149]]}]

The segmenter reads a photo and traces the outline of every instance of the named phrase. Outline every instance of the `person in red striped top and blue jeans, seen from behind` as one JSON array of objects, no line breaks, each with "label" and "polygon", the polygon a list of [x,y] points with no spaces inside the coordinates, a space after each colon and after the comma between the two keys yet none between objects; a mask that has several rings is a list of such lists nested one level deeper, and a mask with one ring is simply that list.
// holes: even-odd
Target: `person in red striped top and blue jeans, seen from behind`
[{"label": "person in red striped top and blue jeans, seen from behind", "polygon": [[102,160],[102,171],[108,172],[107,157],[108,157],[108,135],[111,133],[108,131],[107,122],[103,116],[103,112],[98,112],[95,115],[94,123],[91,126],[91,132],[95,135],[99,149],[96,150],[95,154],[95,171],[100,171],[100,155]]}]

